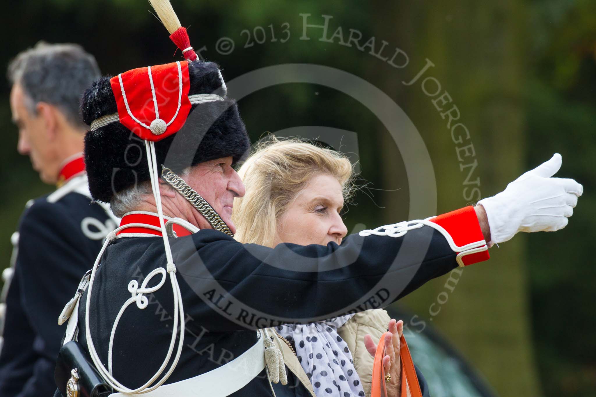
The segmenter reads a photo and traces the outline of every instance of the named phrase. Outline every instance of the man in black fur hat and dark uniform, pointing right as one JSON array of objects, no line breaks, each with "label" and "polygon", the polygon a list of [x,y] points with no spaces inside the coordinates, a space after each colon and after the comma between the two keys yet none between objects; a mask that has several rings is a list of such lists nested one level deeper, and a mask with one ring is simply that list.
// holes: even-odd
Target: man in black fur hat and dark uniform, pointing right
[{"label": "man in black fur hat and dark uniform, pointing right", "polygon": [[[384,307],[572,215],[582,187],[551,177],[555,155],[475,208],[341,245],[239,243],[231,212],[244,186],[232,167],[246,130],[218,66],[198,60],[175,15],[163,17],[171,10],[157,12],[176,21],[164,24],[186,59],[104,77],[83,97],[89,189],[122,221],[61,314],[57,395],[309,395],[289,387],[278,341],[259,329]],[[72,359],[79,348],[88,360]],[[91,372],[101,385],[83,382]]]}]

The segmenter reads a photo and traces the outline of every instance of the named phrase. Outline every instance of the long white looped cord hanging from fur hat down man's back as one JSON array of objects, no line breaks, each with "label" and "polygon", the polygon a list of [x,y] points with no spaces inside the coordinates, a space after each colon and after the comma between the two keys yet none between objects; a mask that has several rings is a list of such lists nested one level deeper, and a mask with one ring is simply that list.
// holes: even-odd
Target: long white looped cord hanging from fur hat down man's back
[{"label": "long white looped cord hanging from fur hat down man's back", "polygon": [[[176,368],[176,365],[178,364],[180,355],[182,353],[182,346],[184,346],[184,307],[182,305],[182,295],[180,293],[180,287],[178,286],[178,279],[176,279],[176,265],[173,263],[172,249],[170,248],[170,242],[167,238],[166,227],[165,227],[164,220],[163,220],[164,217],[163,217],[163,209],[162,209],[162,199],[161,199],[161,195],[159,192],[159,180],[158,180],[159,174],[157,173],[157,161],[156,161],[156,153],[155,153],[154,143],[145,141],[145,149],[147,149],[147,162],[149,165],[149,174],[150,174],[150,178],[151,178],[151,190],[153,190],[153,196],[156,201],[157,214],[159,215],[159,221],[160,221],[160,226],[161,226],[160,229],[162,230],[163,245],[164,245],[164,249],[166,251],[167,264],[166,264],[166,269],[164,269],[163,267],[160,267],[160,268],[156,268],[155,270],[151,271],[151,273],[149,273],[147,275],[147,277],[145,277],[145,280],[143,281],[141,288],[138,287],[138,282],[136,282],[136,280],[132,280],[129,283],[128,290],[129,290],[129,292],[131,292],[132,296],[125,302],[125,304],[122,306],[122,308],[120,308],[120,312],[118,313],[116,320],[114,321],[114,325],[113,325],[111,333],[110,333],[110,345],[108,348],[108,369],[107,370],[104,367],[104,365],[102,364],[100,357],[98,356],[97,351],[95,350],[93,340],[91,338],[91,327],[89,326],[89,313],[91,310],[91,292],[92,292],[93,283],[95,280],[95,273],[97,271],[97,267],[101,260],[101,257],[104,254],[105,248],[111,242],[111,240],[116,238],[117,232],[119,232],[121,229],[124,229],[125,227],[129,227],[129,225],[125,225],[123,227],[119,227],[118,229],[114,230],[114,232],[111,232],[110,235],[108,236],[108,238],[105,240],[104,246],[101,248],[100,255],[98,255],[97,260],[95,260],[95,264],[93,265],[93,270],[91,271],[91,278],[89,279],[89,290],[87,292],[88,295],[87,295],[87,300],[86,300],[86,305],[85,305],[85,329],[86,329],[85,335],[86,335],[86,342],[87,342],[87,347],[89,350],[89,355],[91,355],[91,359],[94,362],[95,367],[97,368],[98,371],[100,371],[101,375],[104,377],[106,382],[108,382],[108,384],[111,387],[113,387],[114,390],[117,390],[118,392],[125,393],[125,394],[147,393],[147,392],[150,392],[151,390],[157,389],[157,387],[161,386],[164,382],[166,382],[166,380],[170,377],[170,375]],[[157,372],[151,377],[151,379],[149,379],[145,383],[145,385],[137,387],[136,389],[129,389],[128,387],[122,385],[122,383],[118,382],[112,376],[112,353],[113,353],[112,348],[113,348],[114,335],[116,334],[116,328],[118,326],[120,318],[122,317],[123,312],[133,302],[136,302],[137,307],[141,310],[147,307],[148,301],[147,301],[147,298],[143,294],[151,293],[151,292],[155,292],[155,291],[159,290],[160,287],[162,287],[165,282],[166,272],[170,276],[169,278],[170,278],[170,282],[172,284],[172,291],[173,291],[173,295],[174,295],[174,317],[173,317],[174,324],[172,327],[173,328],[172,329],[172,339],[170,339],[170,346],[167,351],[166,358],[164,359],[162,365],[160,366],[159,370],[157,370]],[[147,288],[147,283],[149,282],[149,280],[153,276],[156,276],[158,273],[162,274],[161,282],[155,287]],[[150,386],[153,382],[156,382],[157,378],[159,378],[162,375],[164,368],[166,367],[167,363],[170,361],[170,357],[172,357],[172,352],[173,352],[174,346],[176,345],[176,335],[178,334],[178,326],[180,326],[178,350],[176,351],[176,356],[174,357],[174,359],[172,361],[172,365],[170,365],[170,368],[167,370],[166,374],[163,375],[162,379],[157,381],[157,383],[155,383],[155,385]]]}]

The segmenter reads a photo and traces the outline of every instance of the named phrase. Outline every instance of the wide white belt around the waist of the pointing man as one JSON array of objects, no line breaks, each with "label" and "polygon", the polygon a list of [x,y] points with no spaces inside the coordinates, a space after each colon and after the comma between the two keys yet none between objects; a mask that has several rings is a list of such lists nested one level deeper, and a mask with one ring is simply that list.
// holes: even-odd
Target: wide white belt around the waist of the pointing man
[{"label": "wide white belt around the waist of the pointing man", "polygon": [[159,386],[148,393],[113,393],[110,397],[224,397],[242,389],[265,368],[265,344],[257,331],[257,342],[246,352],[204,374]]}]

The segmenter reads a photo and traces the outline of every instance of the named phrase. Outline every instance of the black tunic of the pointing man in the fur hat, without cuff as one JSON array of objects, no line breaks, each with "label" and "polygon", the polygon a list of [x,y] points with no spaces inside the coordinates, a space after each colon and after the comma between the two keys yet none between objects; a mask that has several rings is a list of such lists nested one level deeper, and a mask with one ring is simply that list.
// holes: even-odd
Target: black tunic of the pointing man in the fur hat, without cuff
[{"label": "black tunic of the pointing man in the fur hat, without cuff", "polygon": [[[244,245],[215,230],[170,239],[170,245],[184,302],[185,335],[180,360],[166,384],[238,357],[254,345],[257,329],[384,307],[457,267],[457,253],[429,226],[402,237],[351,235],[339,246],[281,244],[272,249]],[[120,238],[105,250],[92,289],[89,327],[106,368],[114,320],[131,298],[129,283],[137,280],[140,287],[158,267],[166,267],[162,237]],[[161,279],[155,275],[147,287]],[[78,336],[87,350],[88,293],[79,305]],[[146,297],[145,309],[136,304],[126,308],[114,335],[113,376],[130,388],[156,373],[176,321],[169,277]],[[291,374],[287,386],[274,389],[277,396],[308,395]],[[233,395],[271,395],[265,371]]]}]

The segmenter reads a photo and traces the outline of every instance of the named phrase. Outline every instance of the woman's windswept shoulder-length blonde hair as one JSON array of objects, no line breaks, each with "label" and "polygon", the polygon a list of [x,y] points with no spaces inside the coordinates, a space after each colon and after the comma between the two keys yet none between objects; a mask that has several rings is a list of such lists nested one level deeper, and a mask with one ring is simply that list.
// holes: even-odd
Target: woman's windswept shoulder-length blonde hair
[{"label": "woman's windswept shoulder-length blonde hair", "polygon": [[277,221],[313,176],[329,174],[342,186],[344,200],[352,195],[353,167],[341,153],[299,139],[261,143],[238,170],[246,187],[234,199],[235,238],[243,243],[272,246]]}]

